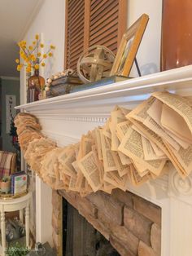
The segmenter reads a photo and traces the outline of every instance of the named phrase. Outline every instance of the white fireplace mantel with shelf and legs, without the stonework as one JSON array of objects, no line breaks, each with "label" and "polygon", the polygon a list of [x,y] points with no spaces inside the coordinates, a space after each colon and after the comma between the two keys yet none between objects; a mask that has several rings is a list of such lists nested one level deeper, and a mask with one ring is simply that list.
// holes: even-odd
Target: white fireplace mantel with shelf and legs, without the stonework
[{"label": "white fireplace mantel with shelf and legs, without the stonework", "polygon": [[[192,65],[44,99],[16,109],[35,114],[41,122],[43,133],[59,146],[65,146],[76,143],[82,134],[93,130],[95,126],[103,126],[116,104],[134,108],[157,90],[192,96]],[[190,256],[192,175],[182,180],[171,164],[169,169],[169,174],[140,187],[129,184],[128,190],[162,208],[162,256]],[[49,214],[49,205],[45,203],[46,189],[37,180],[38,241],[47,240],[43,236],[43,228],[50,225],[49,218],[43,218],[42,214]]]}]

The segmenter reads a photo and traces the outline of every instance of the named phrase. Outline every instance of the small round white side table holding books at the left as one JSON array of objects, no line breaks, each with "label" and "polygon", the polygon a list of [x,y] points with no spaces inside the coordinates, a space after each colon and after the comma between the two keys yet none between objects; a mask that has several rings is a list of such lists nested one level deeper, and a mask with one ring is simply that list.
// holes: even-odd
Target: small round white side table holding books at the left
[{"label": "small round white side table holding books at the left", "polygon": [[2,256],[6,251],[6,223],[5,213],[15,210],[20,210],[20,221],[23,223],[23,210],[25,208],[25,232],[26,232],[26,246],[29,248],[29,207],[31,200],[31,192],[27,195],[10,200],[0,200],[0,214],[1,214],[1,232],[2,232]]}]

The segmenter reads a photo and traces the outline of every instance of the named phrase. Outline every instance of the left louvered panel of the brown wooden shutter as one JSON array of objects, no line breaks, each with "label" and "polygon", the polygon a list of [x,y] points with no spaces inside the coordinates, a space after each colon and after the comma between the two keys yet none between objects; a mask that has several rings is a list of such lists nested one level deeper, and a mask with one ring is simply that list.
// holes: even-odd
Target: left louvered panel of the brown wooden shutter
[{"label": "left louvered panel of the brown wooden shutter", "polygon": [[84,51],[85,1],[66,1],[65,68],[76,69]]}]

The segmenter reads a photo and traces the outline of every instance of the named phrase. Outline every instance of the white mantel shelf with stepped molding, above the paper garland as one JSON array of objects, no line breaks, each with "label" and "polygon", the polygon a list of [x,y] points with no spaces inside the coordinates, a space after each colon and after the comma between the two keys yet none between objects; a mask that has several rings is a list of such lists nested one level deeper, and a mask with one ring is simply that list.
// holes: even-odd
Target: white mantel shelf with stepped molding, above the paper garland
[{"label": "white mantel shelf with stepped molding, above the paper garland", "polygon": [[[107,86],[82,90],[69,95],[43,99],[30,104],[16,107],[25,111],[38,111],[71,108],[90,108],[108,105],[138,104],[157,90],[168,90],[180,95],[192,95],[192,65],[175,68],[161,73],[154,73],[144,77],[137,77],[123,82],[116,82]],[[76,112],[79,112],[76,110]]]}]

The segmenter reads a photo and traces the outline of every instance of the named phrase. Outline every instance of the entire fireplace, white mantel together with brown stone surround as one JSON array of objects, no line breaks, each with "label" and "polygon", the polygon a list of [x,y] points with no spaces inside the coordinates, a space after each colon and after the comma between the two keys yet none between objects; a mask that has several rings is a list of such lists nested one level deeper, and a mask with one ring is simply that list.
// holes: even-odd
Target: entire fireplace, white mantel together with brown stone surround
[{"label": "entire fireplace, white mantel together with brown stone surround", "polygon": [[[157,90],[168,90],[191,97],[191,73],[192,65],[189,65],[24,104],[17,109],[35,114],[41,122],[43,133],[54,139],[59,146],[65,146],[76,143],[82,134],[93,130],[95,126],[103,126],[116,104],[125,108],[134,108]],[[137,254],[149,256],[153,255],[160,245],[161,256],[192,255],[192,225],[189,224],[192,223],[192,175],[183,180],[173,166],[168,164],[168,174],[137,187],[128,183],[127,191],[124,200],[121,192],[113,192],[111,196],[98,192],[85,198],[80,198],[74,193],[66,194],[59,191],[59,194],[68,197],[69,203],[74,205],[89,223],[103,232],[119,251],[129,250],[129,254],[134,255],[137,248]],[[119,196],[116,196],[118,193]],[[53,201],[57,200],[56,197],[54,196]],[[51,198],[51,188],[37,177],[37,241],[52,242],[50,225],[52,221],[55,227],[53,233],[55,245],[60,245],[60,226],[55,223],[61,211],[54,207],[55,217],[52,218]],[[62,197],[58,198],[62,200]],[[161,237],[161,243],[159,239],[154,239],[158,236]],[[124,245],[124,241],[127,240],[131,241],[129,245],[132,245],[132,248],[128,248],[127,244]]]}]

